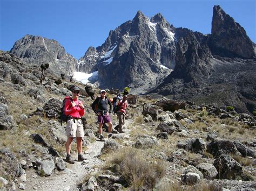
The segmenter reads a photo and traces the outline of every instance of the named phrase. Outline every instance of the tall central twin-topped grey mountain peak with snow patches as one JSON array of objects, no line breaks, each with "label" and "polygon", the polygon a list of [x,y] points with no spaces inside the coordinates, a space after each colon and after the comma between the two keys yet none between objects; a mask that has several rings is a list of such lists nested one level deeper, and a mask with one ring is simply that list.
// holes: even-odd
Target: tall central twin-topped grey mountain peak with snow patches
[{"label": "tall central twin-topped grey mountain peak with snow patches", "polygon": [[160,13],[149,19],[138,11],[133,20],[110,31],[105,43],[96,48],[96,65],[91,72],[98,70],[102,87],[129,86],[145,93],[174,69],[174,30]]}]

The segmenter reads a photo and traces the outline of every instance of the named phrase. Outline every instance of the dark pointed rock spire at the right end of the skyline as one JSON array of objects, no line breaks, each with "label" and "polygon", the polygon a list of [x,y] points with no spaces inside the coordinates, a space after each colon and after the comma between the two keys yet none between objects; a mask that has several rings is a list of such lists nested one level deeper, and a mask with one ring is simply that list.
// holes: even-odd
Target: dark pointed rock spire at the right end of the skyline
[{"label": "dark pointed rock spire at the right end of the skyline", "polygon": [[244,28],[217,5],[213,8],[211,43],[212,51],[222,56],[253,58],[255,55]]}]

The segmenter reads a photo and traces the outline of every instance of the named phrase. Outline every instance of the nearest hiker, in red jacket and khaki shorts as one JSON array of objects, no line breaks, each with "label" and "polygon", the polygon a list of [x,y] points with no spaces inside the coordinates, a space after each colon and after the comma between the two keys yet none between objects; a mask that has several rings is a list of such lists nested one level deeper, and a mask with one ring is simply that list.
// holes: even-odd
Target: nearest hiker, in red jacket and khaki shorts
[{"label": "nearest hiker, in red jacket and khaki shorts", "polygon": [[78,100],[80,94],[80,89],[74,87],[72,89],[72,100],[65,102],[65,115],[69,116],[68,121],[66,122],[66,136],[68,140],[65,144],[66,146],[66,162],[74,164],[75,161],[71,158],[70,150],[71,143],[73,138],[77,139],[77,151],[78,151],[78,161],[83,161],[83,142],[82,138],[84,137],[84,128],[81,117],[84,115],[84,105],[83,102]]}]

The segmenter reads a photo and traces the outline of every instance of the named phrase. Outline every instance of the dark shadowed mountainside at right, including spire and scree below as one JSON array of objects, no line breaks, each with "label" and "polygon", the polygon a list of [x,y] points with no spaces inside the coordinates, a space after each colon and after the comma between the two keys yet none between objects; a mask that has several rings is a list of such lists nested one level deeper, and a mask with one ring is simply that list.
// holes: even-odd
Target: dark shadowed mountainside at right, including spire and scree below
[{"label": "dark shadowed mountainside at right, including spire and scree below", "polygon": [[176,29],[176,37],[176,66],[152,93],[239,112],[256,109],[253,43],[220,6],[213,8],[212,34]]}]

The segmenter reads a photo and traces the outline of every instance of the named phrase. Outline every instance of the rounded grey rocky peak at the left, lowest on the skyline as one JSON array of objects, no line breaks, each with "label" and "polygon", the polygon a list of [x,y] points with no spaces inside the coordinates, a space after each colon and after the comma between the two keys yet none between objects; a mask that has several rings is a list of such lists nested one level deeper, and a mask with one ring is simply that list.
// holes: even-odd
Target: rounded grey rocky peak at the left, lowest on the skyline
[{"label": "rounded grey rocky peak at the left, lowest on the skyline", "polygon": [[28,63],[49,63],[48,70],[58,75],[73,75],[77,65],[77,60],[66,53],[56,40],[28,34],[16,41],[10,52]]}]

